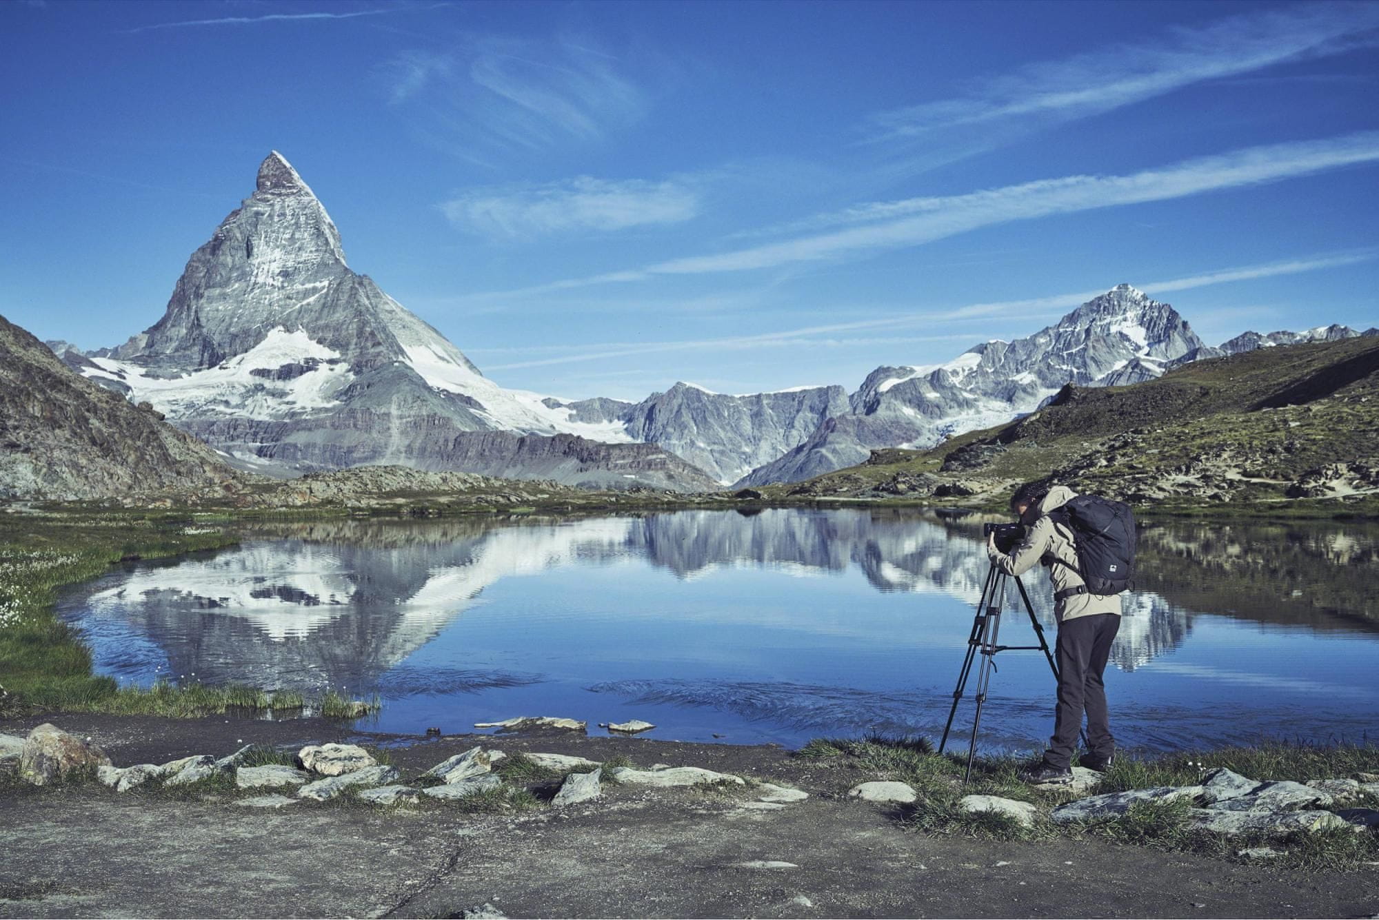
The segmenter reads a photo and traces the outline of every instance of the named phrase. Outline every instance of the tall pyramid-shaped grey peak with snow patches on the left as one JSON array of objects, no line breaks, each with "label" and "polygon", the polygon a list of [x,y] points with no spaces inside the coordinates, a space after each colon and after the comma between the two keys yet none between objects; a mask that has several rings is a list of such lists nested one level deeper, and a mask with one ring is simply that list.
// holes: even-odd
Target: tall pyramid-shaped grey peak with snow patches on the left
[{"label": "tall pyramid-shaped grey peak with snow patches on the left", "polygon": [[583,421],[484,377],[349,267],[335,223],[277,151],[259,167],[254,194],[192,253],[161,320],[117,348],[65,358],[252,470],[400,463],[513,478],[556,471],[590,485],[716,485],[663,449],[627,443],[621,423]]}]

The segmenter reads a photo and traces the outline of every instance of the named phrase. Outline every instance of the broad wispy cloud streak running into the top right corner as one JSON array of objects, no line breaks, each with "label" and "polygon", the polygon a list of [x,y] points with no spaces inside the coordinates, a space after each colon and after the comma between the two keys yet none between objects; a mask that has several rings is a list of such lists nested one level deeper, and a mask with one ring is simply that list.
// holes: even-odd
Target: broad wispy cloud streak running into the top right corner
[{"label": "broad wispy cloud streak running into the top right corner", "polygon": [[1379,41],[1379,4],[1303,3],[1252,11],[1162,37],[1027,65],[968,92],[876,114],[873,140],[936,136],[990,149],[1025,131],[1183,87]]}]

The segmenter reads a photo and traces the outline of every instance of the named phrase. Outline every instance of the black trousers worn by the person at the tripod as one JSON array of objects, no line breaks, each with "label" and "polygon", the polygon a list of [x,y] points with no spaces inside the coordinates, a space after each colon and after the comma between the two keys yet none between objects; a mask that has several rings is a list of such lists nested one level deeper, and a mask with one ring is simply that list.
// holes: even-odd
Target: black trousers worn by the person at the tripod
[{"label": "black trousers worn by the person at the tripod", "polygon": [[1087,713],[1087,745],[1092,756],[1106,759],[1116,749],[1102,672],[1118,631],[1120,617],[1114,613],[1096,613],[1059,624],[1058,712],[1054,716],[1054,737],[1044,752],[1047,763],[1059,769],[1071,764],[1083,729],[1083,712]]}]

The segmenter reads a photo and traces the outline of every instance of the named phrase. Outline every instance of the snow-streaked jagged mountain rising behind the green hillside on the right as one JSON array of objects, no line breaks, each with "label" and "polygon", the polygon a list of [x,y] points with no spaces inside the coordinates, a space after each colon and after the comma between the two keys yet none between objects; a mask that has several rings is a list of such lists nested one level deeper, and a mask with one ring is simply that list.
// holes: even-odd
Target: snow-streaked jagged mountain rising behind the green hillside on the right
[{"label": "snow-streaked jagged mountain rising behind the green hillside on the right", "polygon": [[877,368],[847,413],[738,485],[808,479],[873,448],[929,448],[1033,412],[1066,383],[1138,383],[1204,347],[1169,304],[1121,284],[1026,339],[985,342],[942,365]]}]

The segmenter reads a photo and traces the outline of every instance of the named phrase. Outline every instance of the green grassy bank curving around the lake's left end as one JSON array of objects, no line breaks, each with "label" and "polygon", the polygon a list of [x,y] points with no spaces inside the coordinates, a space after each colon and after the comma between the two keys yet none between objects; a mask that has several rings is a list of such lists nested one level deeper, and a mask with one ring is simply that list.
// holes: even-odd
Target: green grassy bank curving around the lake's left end
[{"label": "green grassy bank curving around the lake's left end", "polygon": [[91,673],[91,651],[55,610],[58,589],[120,562],[230,547],[214,523],[172,514],[8,515],[0,518],[0,718],[32,711],[204,716],[228,711],[298,711],[354,718],[376,708],[336,693],[200,683],[121,687]]}]

